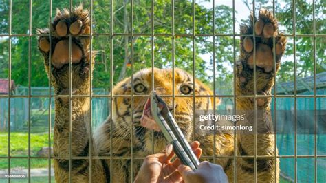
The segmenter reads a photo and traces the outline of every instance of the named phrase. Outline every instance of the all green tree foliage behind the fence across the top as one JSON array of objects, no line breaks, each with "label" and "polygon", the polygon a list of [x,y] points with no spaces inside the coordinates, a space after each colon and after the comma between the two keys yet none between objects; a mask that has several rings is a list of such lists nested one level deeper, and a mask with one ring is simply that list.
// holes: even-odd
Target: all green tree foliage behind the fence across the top
[{"label": "all green tree foliage behind the fence across the top", "polygon": [[[12,34],[28,34],[30,28],[28,0],[12,1]],[[74,5],[83,3],[89,7],[89,1],[74,1]],[[171,1],[158,0],[154,3],[152,18],[152,1],[133,1],[133,19],[131,19],[131,1],[113,0],[94,1],[92,10],[93,32],[98,34],[93,37],[93,50],[96,50],[96,69],[94,71],[94,87],[110,88],[110,78],[113,77],[113,84],[119,80],[131,76],[131,62],[133,58],[133,72],[151,67],[152,60],[155,67],[180,67],[192,74],[195,67],[195,76],[204,83],[213,83],[213,38],[209,36],[196,36],[193,43],[192,33],[212,34],[213,25],[215,33],[232,34],[232,7],[215,6],[213,8],[195,3],[195,22],[193,23],[193,3],[187,0],[174,1],[174,21],[172,16]],[[244,1],[247,3],[247,1]],[[257,5],[265,5],[272,9],[267,1],[257,1]],[[316,34],[325,34],[325,19],[323,19],[323,1],[316,1]],[[249,5],[248,7],[251,7]],[[32,1],[32,38],[28,36],[13,36],[11,39],[11,68],[12,79],[19,85],[28,86],[28,64],[30,56],[31,86],[48,86],[48,79],[43,68],[43,58],[37,50],[37,41],[34,33],[36,28],[47,28],[50,17],[54,17],[55,8],[69,8],[68,1],[53,1],[52,14],[49,14],[49,2]],[[276,3],[276,17],[279,19],[281,28],[286,34],[292,34],[293,28],[293,5],[292,1],[281,1]],[[324,12],[323,12],[324,11]],[[111,12],[113,22],[111,23]],[[296,1],[296,34],[313,34],[312,3],[307,1]],[[9,1],[0,3],[0,34],[8,34],[9,30]],[[213,15],[215,23],[213,23]],[[241,17],[241,19],[247,19]],[[133,24],[131,25],[131,21]],[[152,29],[152,21],[154,28]],[[173,26],[174,22],[174,26]],[[237,23],[237,22],[236,22]],[[111,24],[113,28],[111,28]],[[193,28],[195,25],[195,28]],[[131,39],[131,32],[133,40]],[[110,36],[113,31],[113,50],[110,48]],[[151,33],[155,39],[151,40]],[[174,52],[173,39],[164,34],[175,33]],[[127,35],[124,35],[127,34]],[[128,35],[129,34],[129,35]],[[185,35],[188,34],[188,35]],[[239,39],[236,37],[236,47]],[[296,67],[298,76],[305,77],[312,75],[314,70],[314,50],[312,37],[296,38]],[[152,45],[153,43],[153,45]],[[294,62],[293,49],[294,41],[288,39],[287,51],[283,59],[282,69],[279,73],[280,81],[287,81],[293,78]],[[8,37],[0,38],[0,78],[8,78],[9,63],[9,42]],[[325,72],[325,39],[316,38],[316,70],[317,73]],[[152,55],[153,49],[153,55]],[[195,49],[195,54],[193,54]],[[111,61],[110,52],[113,54]],[[133,54],[133,55],[132,55]],[[193,59],[193,56],[195,58]],[[195,60],[195,65],[193,65]],[[110,68],[113,62],[113,68]],[[215,37],[215,73],[217,83],[229,83],[231,87],[233,78],[233,37]],[[111,69],[113,73],[111,74]]]}]

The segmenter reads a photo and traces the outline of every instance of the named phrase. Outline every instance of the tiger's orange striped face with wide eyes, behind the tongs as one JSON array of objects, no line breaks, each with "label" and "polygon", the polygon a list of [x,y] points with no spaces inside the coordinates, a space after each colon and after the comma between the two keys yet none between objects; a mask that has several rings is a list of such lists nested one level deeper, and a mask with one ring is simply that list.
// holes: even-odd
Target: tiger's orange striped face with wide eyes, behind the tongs
[{"label": "tiger's orange striped face with wide eyes, behind the tongs", "polygon": [[[146,101],[153,89],[169,106],[169,110],[175,115],[177,124],[188,140],[191,140],[193,135],[193,109],[212,109],[213,97],[208,96],[212,96],[213,92],[206,85],[199,80],[195,80],[194,85],[193,76],[182,69],[175,69],[174,72],[174,106],[172,69],[155,68],[153,82],[152,69],[142,69],[134,74],[133,87],[131,78],[126,78],[113,88],[112,118],[115,130],[122,130],[125,136],[133,134],[134,147],[151,152],[152,149],[157,151],[166,146],[162,132],[153,131],[141,122]],[[131,100],[132,92],[133,100]],[[193,100],[193,93],[196,96],[195,100]],[[131,133],[131,124],[133,133]]]}]

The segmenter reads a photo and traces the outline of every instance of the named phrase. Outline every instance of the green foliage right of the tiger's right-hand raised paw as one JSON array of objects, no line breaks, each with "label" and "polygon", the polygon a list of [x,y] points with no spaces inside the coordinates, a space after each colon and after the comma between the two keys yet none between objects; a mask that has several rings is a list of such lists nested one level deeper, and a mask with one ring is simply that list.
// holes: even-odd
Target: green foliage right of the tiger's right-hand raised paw
[{"label": "green foliage right of the tiger's right-hand raised paw", "polygon": [[[294,34],[293,17],[295,15],[295,34],[312,35],[325,34],[325,1],[296,1],[293,11],[292,1],[282,1],[283,7],[276,6],[276,17],[281,22],[286,34]],[[313,6],[315,6],[315,20],[313,19]],[[295,13],[295,14],[293,14]],[[315,28],[314,28],[315,21]],[[294,52],[295,41],[295,52]],[[296,56],[296,76],[307,77],[314,74],[314,57],[316,57],[316,74],[326,71],[326,39],[316,37],[316,55],[314,56],[314,38],[312,36],[299,36],[296,39],[287,39],[287,50],[282,61],[279,81],[292,80],[294,75],[294,54]]]}]

